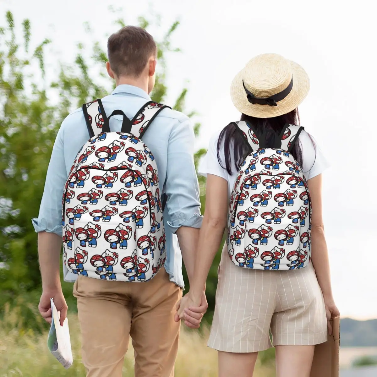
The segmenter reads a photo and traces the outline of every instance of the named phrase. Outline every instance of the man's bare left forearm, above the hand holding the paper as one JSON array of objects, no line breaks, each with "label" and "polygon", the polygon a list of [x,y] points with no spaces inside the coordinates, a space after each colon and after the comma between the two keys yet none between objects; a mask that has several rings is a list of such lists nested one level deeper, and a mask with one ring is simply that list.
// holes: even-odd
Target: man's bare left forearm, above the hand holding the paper
[{"label": "man's bare left forearm, above the hand holding the paper", "polygon": [[60,284],[61,237],[55,233],[38,233],[38,256],[43,290],[56,290]]}]

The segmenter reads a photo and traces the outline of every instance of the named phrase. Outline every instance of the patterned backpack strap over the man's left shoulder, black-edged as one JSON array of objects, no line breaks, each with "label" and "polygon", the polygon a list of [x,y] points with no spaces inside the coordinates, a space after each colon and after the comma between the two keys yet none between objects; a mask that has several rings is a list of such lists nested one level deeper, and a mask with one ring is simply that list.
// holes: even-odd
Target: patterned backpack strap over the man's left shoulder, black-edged
[{"label": "patterned backpack strap over the man's left shoulder, black-edged", "polygon": [[83,113],[91,138],[102,132],[110,132],[109,121],[100,99],[84,103]]}]

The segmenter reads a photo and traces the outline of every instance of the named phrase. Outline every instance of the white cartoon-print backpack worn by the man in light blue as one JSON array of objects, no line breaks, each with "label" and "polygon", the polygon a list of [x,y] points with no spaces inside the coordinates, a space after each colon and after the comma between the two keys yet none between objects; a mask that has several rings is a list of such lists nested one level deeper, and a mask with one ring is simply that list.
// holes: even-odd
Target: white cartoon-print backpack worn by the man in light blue
[{"label": "white cartoon-print backpack worn by the man in light blue", "polygon": [[[77,153],[63,193],[67,269],[97,279],[144,282],[166,259],[156,161],[142,138],[165,105],[146,103],[132,120],[106,117],[101,100],[83,105],[89,141]],[[109,119],[123,115],[121,132]]]}]

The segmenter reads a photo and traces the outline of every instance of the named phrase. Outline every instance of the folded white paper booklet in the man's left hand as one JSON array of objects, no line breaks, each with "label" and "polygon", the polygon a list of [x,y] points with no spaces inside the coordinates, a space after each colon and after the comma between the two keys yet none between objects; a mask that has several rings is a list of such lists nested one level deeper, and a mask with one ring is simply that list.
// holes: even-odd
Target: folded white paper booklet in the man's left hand
[{"label": "folded white paper booklet in the man's left hand", "polygon": [[60,312],[57,311],[54,299],[51,299],[51,328],[48,333],[47,346],[64,368],[68,369],[73,363],[72,348],[69,337],[68,319],[60,325]]}]

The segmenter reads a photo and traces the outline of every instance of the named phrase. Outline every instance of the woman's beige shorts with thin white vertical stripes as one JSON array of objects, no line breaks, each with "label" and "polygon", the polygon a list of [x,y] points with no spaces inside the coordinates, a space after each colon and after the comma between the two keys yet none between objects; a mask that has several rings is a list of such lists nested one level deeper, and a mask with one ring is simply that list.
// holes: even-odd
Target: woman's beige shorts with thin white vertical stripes
[{"label": "woman's beige shorts with thin white vertical stripes", "polygon": [[257,352],[326,340],[325,304],[312,263],[291,271],[249,270],[234,265],[224,246],[209,347]]}]

